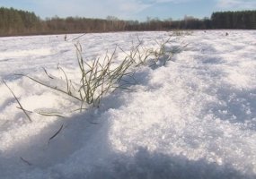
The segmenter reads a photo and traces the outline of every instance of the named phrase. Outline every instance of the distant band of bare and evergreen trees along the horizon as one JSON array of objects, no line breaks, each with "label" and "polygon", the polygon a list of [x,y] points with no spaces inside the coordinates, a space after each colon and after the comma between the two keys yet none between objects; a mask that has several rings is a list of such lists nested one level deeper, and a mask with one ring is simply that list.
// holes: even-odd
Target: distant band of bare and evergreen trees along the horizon
[{"label": "distant band of bare and evergreen trees along the horizon", "polygon": [[256,11],[212,13],[211,18],[197,19],[185,16],[183,20],[122,21],[108,16],[106,19],[81,17],[53,17],[41,20],[35,13],[0,7],[0,36],[58,33],[85,33],[128,30],[256,30]]}]

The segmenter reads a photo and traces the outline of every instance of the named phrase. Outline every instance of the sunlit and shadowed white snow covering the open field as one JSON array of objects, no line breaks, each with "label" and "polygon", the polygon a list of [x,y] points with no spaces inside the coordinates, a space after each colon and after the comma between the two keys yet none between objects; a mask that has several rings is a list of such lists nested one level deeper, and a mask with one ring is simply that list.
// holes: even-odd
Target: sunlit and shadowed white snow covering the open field
[{"label": "sunlit and shadowed white snow covering the open field", "polygon": [[256,31],[225,32],[173,37],[174,47],[188,46],[172,61],[137,68],[133,90],[83,113],[69,113],[75,99],[14,74],[48,80],[43,68],[63,76],[60,64],[77,81],[77,40],[91,60],[116,44],[128,51],[137,37],[154,47],[172,33],[0,38],[0,178],[256,178]]}]

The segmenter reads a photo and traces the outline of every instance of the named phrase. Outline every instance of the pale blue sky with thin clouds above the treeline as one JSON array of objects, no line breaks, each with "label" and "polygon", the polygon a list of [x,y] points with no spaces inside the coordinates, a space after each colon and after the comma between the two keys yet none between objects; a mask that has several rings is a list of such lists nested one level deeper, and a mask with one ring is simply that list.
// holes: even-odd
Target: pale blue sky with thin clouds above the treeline
[{"label": "pale blue sky with thin clouds above the treeline", "polygon": [[185,15],[210,17],[216,11],[256,9],[256,0],[0,0],[0,6],[32,11],[46,17],[81,16],[146,21],[182,19]]}]

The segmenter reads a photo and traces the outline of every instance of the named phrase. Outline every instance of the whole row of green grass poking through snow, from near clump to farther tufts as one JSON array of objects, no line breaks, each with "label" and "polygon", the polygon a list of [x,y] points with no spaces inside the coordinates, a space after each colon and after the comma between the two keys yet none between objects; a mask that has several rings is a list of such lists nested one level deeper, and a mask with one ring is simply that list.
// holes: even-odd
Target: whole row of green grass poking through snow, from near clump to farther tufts
[{"label": "whole row of green grass poking through snow, from near clump to farther tufts", "polygon": [[[181,52],[182,49],[182,47],[172,47],[172,38],[159,41],[155,40],[155,43],[157,44],[156,48],[145,47],[143,41],[138,37],[137,42],[137,45],[133,46],[129,52],[125,52],[121,47],[117,46],[110,55],[108,55],[107,52],[103,58],[98,57],[91,62],[84,60],[82,53],[83,48],[80,43],[76,43],[76,59],[79,66],[80,78],[77,81],[69,80],[65,70],[61,66],[57,66],[57,69],[62,72],[65,77],[62,81],[65,82],[66,89],[53,86],[50,81],[56,79],[50,75],[45,68],[43,70],[49,77],[49,82],[40,81],[25,74],[18,75],[27,77],[31,79],[31,81],[35,81],[51,90],[57,90],[71,98],[75,98],[75,100],[80,102],[80,106],[77,107],[76,110],[83,111],[84,109],[87,109],[88,106],[99,107],[102,98],[105,95],[116,89],[128,89],[126,86],[131,83],[127,79],[134,78],[133,73],[136,67],[141,65],[148,65],[151,67],[165,65],[172,59],[173,55]],[[115,64],[114,62],[117,48],[125,53],[124,59],[119,64]],[[23,111],[27,115],[26,111]],[[38,114],[63,117],[62,115],[52,113]]]}]

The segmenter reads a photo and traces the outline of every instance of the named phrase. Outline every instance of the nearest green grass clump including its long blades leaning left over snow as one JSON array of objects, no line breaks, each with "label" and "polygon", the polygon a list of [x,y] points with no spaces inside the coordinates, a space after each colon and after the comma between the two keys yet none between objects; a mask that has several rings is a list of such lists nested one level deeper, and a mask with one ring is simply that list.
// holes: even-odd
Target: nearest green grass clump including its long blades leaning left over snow
[{"label": "nearest green grass clump including its long blades leaning left over snow", "polygon": [[[47,82],[40,81],[26,74],[16,75],[27,77],[31,81],[35,81],[51,90],[57,90],[58,92],[64,93],[71,98],[75,98],[81,103],[79,107],[80,111],[86,109],[86,105],[93,105],[93,107],[99,107],[103,96],[112,90],[125,89],[123,87],[124,84],[119,85],[119,82],[123,81],[123,77],[129,77],[129,75],[132,74],[132,72],[129,72],[129,70],[131,69],[130,67],[132,66],[132,64],[134,64],[131,58],[127,56],[119,65],[114,66],[113,58],[116,53],[116,47],[111,55],[107,55],[108,53],[106,53],[103,61],[101,61],[100,58],[95,58],[93,60],[93,63],[89,64],[83,58],[83,49],[81,45],[77,43],[75,44],[75,48],[76,58],[81,74],[80,81],[76,81],[75,85],[73,85],[73,81],[68,79],[65,70],[61,66],[57,66],[57,69],[64,74],[66,90],[57,86],[52,86]],[[54,77],[50,75],[45,68],[44,72],[47,74],[50,81],[55,80]],[[128,83],[128,81],[125,81],[125,84],[126,83]],[[56,116],[46,113],[40,115]]]}]

